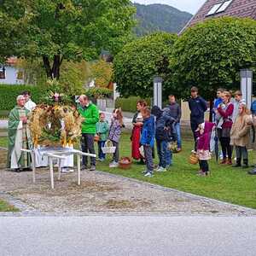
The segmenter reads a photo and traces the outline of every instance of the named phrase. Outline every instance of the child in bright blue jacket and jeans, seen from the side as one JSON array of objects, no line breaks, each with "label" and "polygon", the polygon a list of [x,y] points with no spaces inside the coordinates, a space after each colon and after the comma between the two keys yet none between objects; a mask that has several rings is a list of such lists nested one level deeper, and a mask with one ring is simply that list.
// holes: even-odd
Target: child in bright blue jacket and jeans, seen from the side
[{"label": "child in bright blue jacket and jeans, seen from the side", "polygon": [[143,131],[141,136],[141,144],[144,149],[144,158],[146,160],[147,170],[145,177],[153,177],[154,163],[152,157],[152,148],[154,147],[154,117],[151,115],[149,108],[142,111],[143,114]]}]

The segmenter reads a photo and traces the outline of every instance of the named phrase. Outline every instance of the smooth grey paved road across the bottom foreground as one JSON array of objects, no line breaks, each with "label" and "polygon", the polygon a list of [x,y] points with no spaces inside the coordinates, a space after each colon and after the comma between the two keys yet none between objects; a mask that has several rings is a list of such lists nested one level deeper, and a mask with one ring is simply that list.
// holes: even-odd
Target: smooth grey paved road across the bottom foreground
[{"label": "smooth grey paved road across the bottom foreground", "polygon": [[256,218],[0,218],[0,254],[254,256]]}]

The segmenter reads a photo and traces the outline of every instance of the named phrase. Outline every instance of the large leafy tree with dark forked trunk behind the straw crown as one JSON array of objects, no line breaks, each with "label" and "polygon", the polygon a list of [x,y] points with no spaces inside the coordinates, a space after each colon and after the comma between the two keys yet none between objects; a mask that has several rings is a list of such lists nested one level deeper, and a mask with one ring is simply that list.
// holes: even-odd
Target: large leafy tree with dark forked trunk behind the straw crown
[{"label": "large leafy tree with dark forked trunk behind the straw crown", "polygon": [[130,37],[134,12],[129,0],[4,0],[0,55],[40,57],[47,77],[59,79],[63,60],[116,53]]}]

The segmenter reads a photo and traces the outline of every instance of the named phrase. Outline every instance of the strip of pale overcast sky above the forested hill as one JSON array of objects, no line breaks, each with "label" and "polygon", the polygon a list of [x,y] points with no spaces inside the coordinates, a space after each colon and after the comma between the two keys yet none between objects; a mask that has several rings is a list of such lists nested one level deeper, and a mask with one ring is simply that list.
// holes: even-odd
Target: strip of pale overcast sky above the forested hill
[{"label": "strip of pale overcast sky above the forested hill", "polygon": [[133,2],[142,4],[165,3],[195,15],[195,12],[201,8],[201,5],[205,3],[206,0],[133,0]]}]

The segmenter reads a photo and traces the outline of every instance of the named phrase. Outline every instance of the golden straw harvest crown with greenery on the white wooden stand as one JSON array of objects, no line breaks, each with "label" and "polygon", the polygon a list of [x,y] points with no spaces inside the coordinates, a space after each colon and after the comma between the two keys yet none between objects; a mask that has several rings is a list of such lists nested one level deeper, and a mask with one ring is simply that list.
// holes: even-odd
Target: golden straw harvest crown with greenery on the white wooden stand
[{"label": "golden straw harvest crown with greenery on the white wooden stand", "polygon": [[67,96],[51,92],[44,103],[32,110],[29,128],[35,148],[38,145],[65,147],[79,140],[84,119],[69,102]]}]

